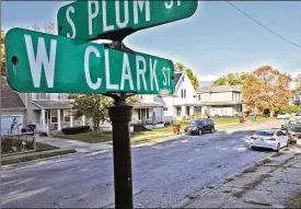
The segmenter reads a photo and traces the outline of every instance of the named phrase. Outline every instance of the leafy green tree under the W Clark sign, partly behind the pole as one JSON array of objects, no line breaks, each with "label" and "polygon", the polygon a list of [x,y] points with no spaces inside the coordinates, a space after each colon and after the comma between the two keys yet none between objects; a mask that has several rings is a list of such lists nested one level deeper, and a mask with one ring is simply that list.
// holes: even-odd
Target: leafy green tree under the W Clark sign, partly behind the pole
[{"label": "leafy green tree under the W Clark sign, partly behind the pole", "polygon": [[[92,118],[94,127],[99,128],[100,124],[108,121],[107,108],[113,104],[111,97],[102,94],[71,94],[69,98],[73,98],[74,117],[86,116]],[[135,105],[139,101],[138,96],[130,96],[127,103]]]}]

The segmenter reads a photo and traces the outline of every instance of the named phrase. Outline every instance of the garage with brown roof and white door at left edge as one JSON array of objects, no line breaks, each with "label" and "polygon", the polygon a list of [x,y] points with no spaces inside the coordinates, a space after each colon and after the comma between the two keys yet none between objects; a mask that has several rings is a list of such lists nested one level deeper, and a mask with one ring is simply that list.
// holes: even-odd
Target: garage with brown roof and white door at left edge
[{"label": "garage with brown roof and white door at left edge", "polygon": [[[11,89],[7,78],[1,77],[1,133],[18,132],[25,126],[25,105],[19,93]],[[16,126],[11,130],[11,125]]]}]

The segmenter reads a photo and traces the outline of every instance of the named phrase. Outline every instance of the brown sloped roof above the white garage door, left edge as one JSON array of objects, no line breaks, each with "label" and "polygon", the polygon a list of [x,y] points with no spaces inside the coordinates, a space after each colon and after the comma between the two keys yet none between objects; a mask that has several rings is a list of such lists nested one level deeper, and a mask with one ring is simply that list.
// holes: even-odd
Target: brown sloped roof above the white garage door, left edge
[{"label": "brown sloped roof above the white garage door, left edge", "polygon": [[19,93],[11,89],[5,77],[1,77],[1,108],[25,108]]}]

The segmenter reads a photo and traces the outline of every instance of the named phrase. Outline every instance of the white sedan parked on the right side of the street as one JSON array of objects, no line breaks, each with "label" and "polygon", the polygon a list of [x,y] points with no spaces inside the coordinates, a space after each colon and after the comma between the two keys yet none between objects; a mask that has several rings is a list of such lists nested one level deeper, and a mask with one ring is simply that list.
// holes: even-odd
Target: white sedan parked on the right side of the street
[{"label": "white sedan parked on the right side of the street", "polygon": [[251,137],[251,148],[267,148],[279,151],[290,142],[289,137],[280,129],[258,130]]}]

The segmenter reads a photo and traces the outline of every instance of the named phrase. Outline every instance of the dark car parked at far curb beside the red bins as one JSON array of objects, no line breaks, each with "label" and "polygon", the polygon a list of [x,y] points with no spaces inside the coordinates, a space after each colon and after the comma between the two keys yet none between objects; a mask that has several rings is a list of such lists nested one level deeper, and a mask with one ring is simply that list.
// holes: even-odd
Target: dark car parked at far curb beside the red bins
[{"label": "dark car parked at far curb beside the red bins", "polygon": [[195,119],[185,128],[189,135],[201,135],[205,131],[215,132],[215,123],[211,119]]}]

